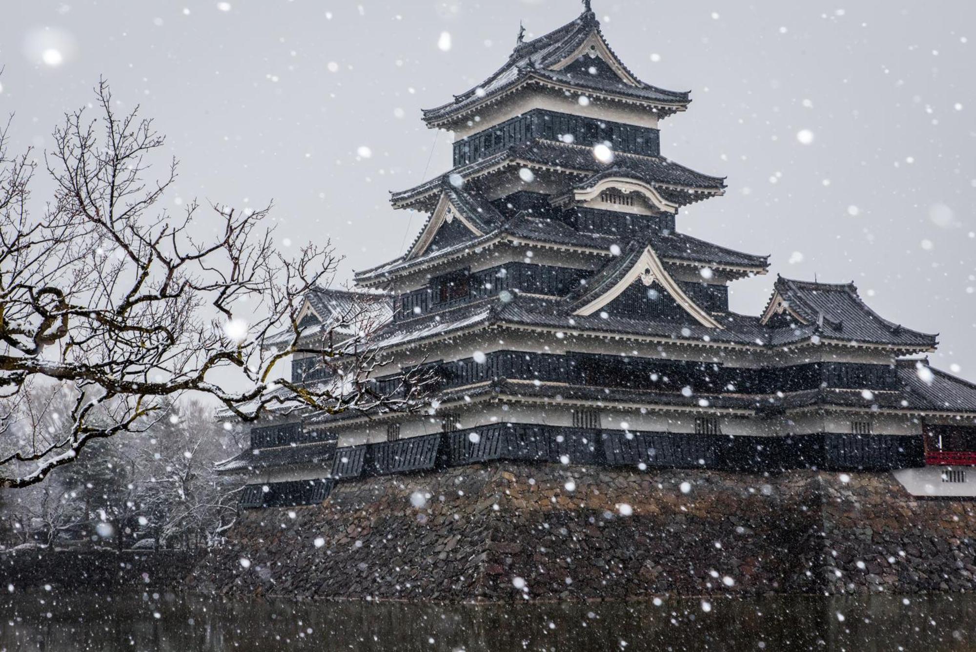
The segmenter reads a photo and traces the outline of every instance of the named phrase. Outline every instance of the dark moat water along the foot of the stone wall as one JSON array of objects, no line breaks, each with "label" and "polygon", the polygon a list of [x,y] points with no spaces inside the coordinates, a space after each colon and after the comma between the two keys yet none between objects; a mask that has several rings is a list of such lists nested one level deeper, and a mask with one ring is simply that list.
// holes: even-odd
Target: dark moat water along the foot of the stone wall
[{"label": "dark moat water along the foot of the stone wall", "polygon": [[442,605],[172,593],[0,602],[14,650],[976,650],[976,595]]}]

